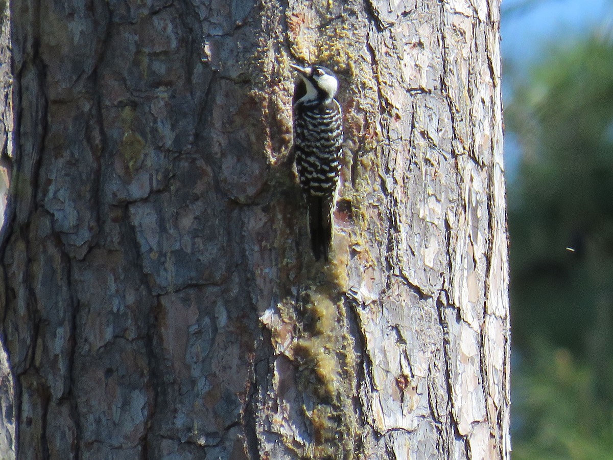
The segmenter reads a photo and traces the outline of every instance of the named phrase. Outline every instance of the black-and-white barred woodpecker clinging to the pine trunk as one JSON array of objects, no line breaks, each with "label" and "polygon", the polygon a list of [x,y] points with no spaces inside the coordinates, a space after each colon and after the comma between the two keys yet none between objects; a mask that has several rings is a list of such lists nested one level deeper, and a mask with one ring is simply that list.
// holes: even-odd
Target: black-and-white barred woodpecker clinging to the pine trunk
[{"label": "black-and-white barred woodpecker clinging to the pine trunk", "polygon": [[296,169],[307,202],[313,255],[327,261],[343,148],[343,116],[334,99],[338,80],[326,67],[290,66],[300,75],[293,111]]}]

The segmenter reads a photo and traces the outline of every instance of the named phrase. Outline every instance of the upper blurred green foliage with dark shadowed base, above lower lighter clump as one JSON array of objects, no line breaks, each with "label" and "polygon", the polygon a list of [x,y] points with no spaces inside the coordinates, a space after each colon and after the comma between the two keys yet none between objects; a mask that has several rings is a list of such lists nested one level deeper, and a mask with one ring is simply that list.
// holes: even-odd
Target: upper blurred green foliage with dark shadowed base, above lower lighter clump
[{"label": "upper blurred green foliage with dark shadowed base, above lower lighter clump", "polygon": [[613,47],[549,56],[505,112],[524,153],[509,187],[514,339],[589,353],[599,302],[613,301]]}]

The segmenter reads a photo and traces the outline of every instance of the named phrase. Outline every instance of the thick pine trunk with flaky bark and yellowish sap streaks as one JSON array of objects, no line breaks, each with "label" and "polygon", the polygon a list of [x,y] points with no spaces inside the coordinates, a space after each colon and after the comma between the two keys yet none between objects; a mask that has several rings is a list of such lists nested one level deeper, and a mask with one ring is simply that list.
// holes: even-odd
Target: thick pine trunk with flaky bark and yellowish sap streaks
[{"label": "thick pine trunk with flaky bark and yellowish sap streaks", "polygon": [[[498,0],[10,9],[0,451],[508,458]],[[341,79],[326,266],[296,61]]]}]

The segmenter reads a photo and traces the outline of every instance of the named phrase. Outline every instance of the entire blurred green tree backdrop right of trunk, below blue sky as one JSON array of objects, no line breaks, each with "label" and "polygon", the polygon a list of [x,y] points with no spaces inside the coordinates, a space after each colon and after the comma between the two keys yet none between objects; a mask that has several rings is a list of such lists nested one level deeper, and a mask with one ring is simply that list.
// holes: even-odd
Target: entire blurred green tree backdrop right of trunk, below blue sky
[{"label": "entire blurred green tree backdrop right of trunk, below blue sky", "polygon": [[506,65],[514,459],[613,458],[613,29],[606,21],[611,15],[590,33],[550,38],[555,45],[524,69],[512,59]]}]

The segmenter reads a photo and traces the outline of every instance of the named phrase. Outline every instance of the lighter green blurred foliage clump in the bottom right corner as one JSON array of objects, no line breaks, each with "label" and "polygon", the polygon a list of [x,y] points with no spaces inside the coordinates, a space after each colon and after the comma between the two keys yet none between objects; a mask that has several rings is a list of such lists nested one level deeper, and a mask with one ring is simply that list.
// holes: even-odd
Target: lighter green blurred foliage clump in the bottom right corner
[{"label": "lighter green blurred foliage clump in the bottom right corner", "polygon": [[612,413],[594,396],[590,367],[541,344],[514,371],[514,460],[613,458]]}]

